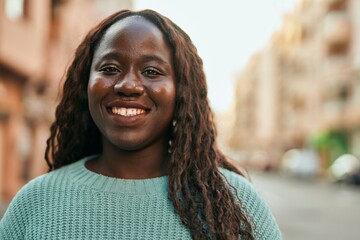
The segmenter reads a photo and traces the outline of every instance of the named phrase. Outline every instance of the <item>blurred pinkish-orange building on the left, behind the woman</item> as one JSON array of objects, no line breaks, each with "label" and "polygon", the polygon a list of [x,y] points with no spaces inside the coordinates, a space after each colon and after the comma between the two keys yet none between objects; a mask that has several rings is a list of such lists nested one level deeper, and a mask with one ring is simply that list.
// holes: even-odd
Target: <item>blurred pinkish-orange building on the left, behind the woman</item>
[{"label": "blurred pinkish-orange building on the left, behind the woman", "polygon": [[0,202],[47,170],[58,89],[91,26],[131,0],[0,0]]}]

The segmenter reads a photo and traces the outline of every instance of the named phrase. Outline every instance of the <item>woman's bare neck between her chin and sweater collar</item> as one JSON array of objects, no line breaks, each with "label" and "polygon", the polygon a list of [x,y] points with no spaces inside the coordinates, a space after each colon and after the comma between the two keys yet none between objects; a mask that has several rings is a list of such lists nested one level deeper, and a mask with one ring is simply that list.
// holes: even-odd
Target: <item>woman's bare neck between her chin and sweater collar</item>
[{"label": "woman's bare neck between her chin and sweater collar", "polygon": [[140,151],[104,148],[86,167],[105,176],[122,179],[146,179],[167,174],[169,153],[165,147],[151,146]]}]

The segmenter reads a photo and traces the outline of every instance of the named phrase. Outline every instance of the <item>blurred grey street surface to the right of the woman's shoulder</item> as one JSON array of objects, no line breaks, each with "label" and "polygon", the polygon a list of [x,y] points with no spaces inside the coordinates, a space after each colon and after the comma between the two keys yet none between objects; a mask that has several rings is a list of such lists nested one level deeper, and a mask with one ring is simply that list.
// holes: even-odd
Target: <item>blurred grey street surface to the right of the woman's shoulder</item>
[{"label": "blurred grey street surface to the right of the woman's shoulder", "polygon": [[283,239],[360,239],[360,187],[252,172]]}]

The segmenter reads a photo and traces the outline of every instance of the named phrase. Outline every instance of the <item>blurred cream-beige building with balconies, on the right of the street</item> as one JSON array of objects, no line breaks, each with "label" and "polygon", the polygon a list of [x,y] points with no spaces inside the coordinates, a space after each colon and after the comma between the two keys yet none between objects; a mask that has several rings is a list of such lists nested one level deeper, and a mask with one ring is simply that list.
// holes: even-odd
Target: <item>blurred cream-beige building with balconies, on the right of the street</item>
[{"label": "blurred cream-beige building with balconies, on the right of the street", "polygon": [[239,74],[229,138],[250,165],[315,149],[360,157],[360,1],[302,0]]}]

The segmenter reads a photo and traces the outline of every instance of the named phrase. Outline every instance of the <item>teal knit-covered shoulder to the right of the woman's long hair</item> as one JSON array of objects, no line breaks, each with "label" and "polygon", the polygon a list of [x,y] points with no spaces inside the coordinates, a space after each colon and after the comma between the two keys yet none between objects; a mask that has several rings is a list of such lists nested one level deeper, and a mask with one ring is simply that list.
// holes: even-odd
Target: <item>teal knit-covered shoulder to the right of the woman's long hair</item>
[{"label": "teal knit-covered shoulder to the right of the woman's long hair", "polygon": [[221,168],[220,172],[231,186],[231,191],[248,218],[255,239],[281,239],[279,226],[254,185],[245,177],[230,170]]}]

